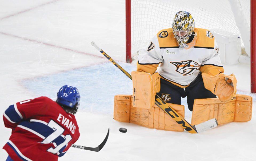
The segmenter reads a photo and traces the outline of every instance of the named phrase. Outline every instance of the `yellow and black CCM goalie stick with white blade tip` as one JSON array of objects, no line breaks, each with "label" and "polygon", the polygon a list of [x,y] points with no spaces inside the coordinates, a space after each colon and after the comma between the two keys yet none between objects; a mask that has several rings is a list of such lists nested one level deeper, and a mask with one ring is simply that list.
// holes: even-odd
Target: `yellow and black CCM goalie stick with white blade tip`
[{"label": "yellow and black CCM goalie stick with white blade tip", "polygon": [[[124,70],[117,62],[115,62],[108,54],[106,54],[102,49],[100,49],[93,41],[91,42],[99,52],[101,52],[109,61],[111,61],[118,69],[120,69],[127,77],[131,80],[131,75]],[[156,95],[155,104],[161,108],[165,113],[167,113],[171,118],[173,118],[179,125],[182,126],[189,133],[199,133],[209,129],[213,129],[218,126],[218,122],[215,118],[202,122],[198,125],[191,125],[189,122],[185,120],[179,113],[177,113],[170,105],[166,104],[158,95]]]}]

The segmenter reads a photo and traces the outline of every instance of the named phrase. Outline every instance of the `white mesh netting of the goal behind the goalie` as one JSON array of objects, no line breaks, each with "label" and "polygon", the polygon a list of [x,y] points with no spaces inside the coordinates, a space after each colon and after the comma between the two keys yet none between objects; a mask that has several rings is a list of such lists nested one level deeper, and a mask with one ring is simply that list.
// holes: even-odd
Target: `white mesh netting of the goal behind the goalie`
[{"label": "white mesh netting of the goal behind the goalie", "polygon": [[[139,49],[149,44],[158,31],[171,27],[178,11],[188,11],[194,18],[197,28],[217,29],[242,37],[242,46],[245,46],[243,39],[250,39],[248,35],[241,35],[241,27],[237,26],[238,20],[243,18],[242,27],[247,27],[246,32],[250,32],[247,31],[250,24],[250,0],[131,0],[133,58]],[[233,11],[240,17],[235,18]]]}]

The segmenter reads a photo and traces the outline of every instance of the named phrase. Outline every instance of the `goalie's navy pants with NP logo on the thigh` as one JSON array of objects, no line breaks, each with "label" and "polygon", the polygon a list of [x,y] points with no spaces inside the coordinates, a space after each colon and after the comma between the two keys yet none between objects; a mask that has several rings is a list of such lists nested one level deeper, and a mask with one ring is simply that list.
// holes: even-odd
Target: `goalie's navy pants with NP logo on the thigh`
[{"label": "goalie's navy pants with NP logo on the thigh", "polygon": [[166,103],[181,104],[181,97],[187,97],[187,106],[193,110],[194,99],[216,98],[211,91],[207,90],[203,84],[202,75],[198,77],[186,88],[181,88],[173,83],[160,78],[161,89],[157,93]]}]

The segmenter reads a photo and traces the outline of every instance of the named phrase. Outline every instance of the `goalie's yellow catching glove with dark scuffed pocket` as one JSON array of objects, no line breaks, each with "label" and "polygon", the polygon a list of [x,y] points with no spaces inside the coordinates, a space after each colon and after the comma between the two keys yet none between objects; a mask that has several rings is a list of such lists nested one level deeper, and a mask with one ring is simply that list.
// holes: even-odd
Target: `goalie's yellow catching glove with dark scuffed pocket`
[{"label": "goalie's yellow catching glove with dark scuffed pocket", "polygon": [[202,77],[205,88],[218,96],[221,102],[227,102],[235,96],[237,79],[234,74],[225,75],[213,69],[208,74],[202,73]]}]

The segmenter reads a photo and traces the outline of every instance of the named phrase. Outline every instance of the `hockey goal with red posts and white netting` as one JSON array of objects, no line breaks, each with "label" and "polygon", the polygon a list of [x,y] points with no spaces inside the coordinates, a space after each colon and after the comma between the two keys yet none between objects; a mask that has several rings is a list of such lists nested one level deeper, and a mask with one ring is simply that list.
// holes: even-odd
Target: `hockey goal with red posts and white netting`
[{"label": "hockey goal with red posts and white netting", "polygon": [[138,51],[146,48],[158,31],[170,28],[178,11],[188,11],[195,27],[241,38],[242,54],[251,57],[251,93],[255,93],[255,1],[126,0],[126,62],[137,61]]}]

